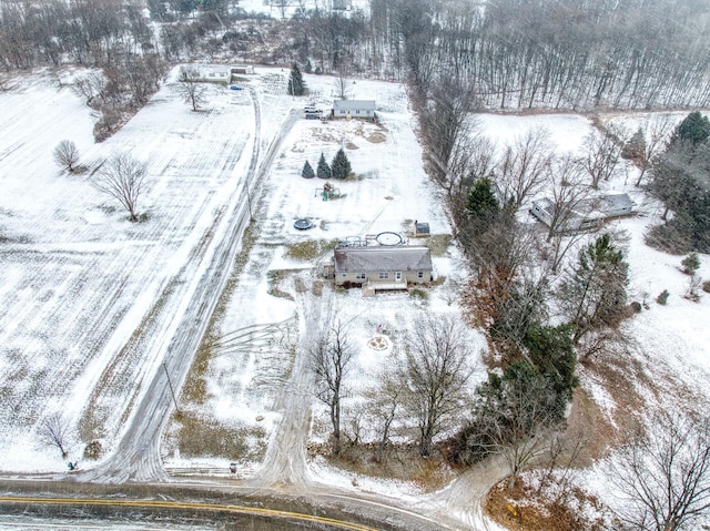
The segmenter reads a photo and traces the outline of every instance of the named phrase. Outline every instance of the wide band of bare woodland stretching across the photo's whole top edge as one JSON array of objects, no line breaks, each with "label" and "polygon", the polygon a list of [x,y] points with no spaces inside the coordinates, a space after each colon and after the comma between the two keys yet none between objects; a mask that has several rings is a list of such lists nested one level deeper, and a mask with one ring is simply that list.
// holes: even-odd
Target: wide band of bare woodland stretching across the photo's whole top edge
[{"label": "wide band of bare woodland stretching across the photo's whole top edge", "polygon": [[[103,65],[160,48],[302,64],[317,72],[409,75],[429,98],[445,76],[474,80],[488,108],[652,109],[710,102],[709,7],[697,0],[579,3],[501,0],[481,9],[424,0],[371,0],[369,16],[320,8],[291,20],[250,16],[225,0],[43,0],[0,6],[0,65]],[[671,13],[671,14],[669,14]],[[190,14],[189,20],[182,19]],[[282,45],[265,47],[272,33]]]}]

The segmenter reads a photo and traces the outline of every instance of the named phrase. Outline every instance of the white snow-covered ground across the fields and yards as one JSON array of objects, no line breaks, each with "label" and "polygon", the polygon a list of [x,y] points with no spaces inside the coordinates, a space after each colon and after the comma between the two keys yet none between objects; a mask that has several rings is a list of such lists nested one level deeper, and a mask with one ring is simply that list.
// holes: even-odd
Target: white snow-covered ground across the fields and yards
[{"label": "white snow-covered ground across the fields and yards", "polygon": [[[70,458],[81,458],[83,443],[92,439],[101,440],[109,451],[114,448],[131,408],[165,355],[170,325],[154,334],[151,328],[180,309],[178,303],[162,304],[173,300],[165,294],[181,289],[199,273],[190,264],[205,252],[201,243],[217,226],[229,201],[241,193],[253,142],[268,150],[288,111],[306,101],[285,95],[286,75],[278,69],[260,69],[245,83],[252,91],[214,85],[199,113],[191,112],[174,83],[168,82],[102,144],[94,144],[91,136],[95,116],[69,88],[58,89],[38,74],[18,79],[12,90],[0,93],[0,468],[4,472],[65,469],[59,452],[38,439],[39,422],[51,412],[61,412],[74,430]],[[325,106],[335,93],[334,80],[305,79],[312,91],[308,100]],[[292,362],[290,319],[296,313],[292,299],[274,292],[274,272],[284,272],[276,284],[290,289],[292,276],[315,280],[312,268],[327,259],[323,255],[315,263],[298,261],[287,255],[288,247],[379,232],[406,235],[414,219],[428,222],[434,234],[450,233],[437,190],[423,171],[404,88],[358,80],[349,92],[352,98],[377,101],[381,124],[300,120],[291,129],[261,197],[251,198],[257,241],[219,323],[222,338],[250,326],[286,323],[278,328],[281,343],[215,356],[207,371],[207,400],[200,407],[231,427],[261,426],[264,438],[283,413],[274,397]],[[253,98],[261,110],[260,131],[254,126]],[[610,119],[635,126],[648,116]],[[480,123],[497,142],[544,126],[560,152],[578,150],[592,127],[584,116],[552,114],[490,114],[480,116]],[[85,173],[68,174],[52,161],[52,150],[64,139],[77,143]],[[306,160],[315,167],[322,152],[332,160],[341,146],[359,178],[337,183],[342,197],[324,202],[316,193],[322,183],[302,178],[301,169]],[[89,183],[99,161],[122,150],[149,164],[149,186],[139,203],[148,219],[139,224],[131,224]],[[649,300],[649,309],[623,328],[648,374],[666,378],[669,390],[682,382],[693,399],[707,400],[710,295],[702,294],[698,303],[682,298],[688,277],[680,272],[681,257],[643,244],[646,228],[658,223],[660,212],[633,188],[635,172],[627,166],[613,182],[604,183],[609,190],[629,192],[640,206],[639,216],[613,222],[630,235],[633,298],[641,300],[646,294]],[[310,217],[314,227],[295,229],[293,223],[300,217]],[[699,274],[710,278],[710,257],[701,261]],[[349,387],[366,387],[389,359],[392,347],[376,351],[368,346],[378,326],[406,329],[419,312],[457,312],[448,283],[463,279],[465,273],[453,246],[435,257],[435,276],[446,282],[433,288],[425,303],[406,294],[375,298],[363,298],[357,289],[335,294],[335,305],[354,319],[353,343],[358,346]],[[660,306],[655,298],[663,289],[670,298]],[[474,341],[476,349],[484,345],[479,335],[474,334]],[[612,410],[604,382],[581,376],[582,386]],[[663,404],[648,390],[637,390],[649,402]],[[316,420],[320,413],[316,409]],[[166,452],[166,464],[173,467],[220,467],[229,460],[205,456],[197,463],[182,459],[174,448]],[[321,464],[313,473],[353,483],[345,476],[336,480]]]}]

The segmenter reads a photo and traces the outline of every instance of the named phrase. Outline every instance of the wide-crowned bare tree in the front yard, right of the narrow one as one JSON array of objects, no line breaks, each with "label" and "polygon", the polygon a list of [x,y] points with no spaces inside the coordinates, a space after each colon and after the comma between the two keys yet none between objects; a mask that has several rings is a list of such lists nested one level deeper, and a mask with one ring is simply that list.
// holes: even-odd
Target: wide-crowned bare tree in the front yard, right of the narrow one
[{"label": "wide-crowned bare tree in the front yard, right of the narrow one", "polygon": [[454,316],[420,317],[406,339],[405,408],[417,419],[419,452],[466,407],[474,365],[465,325]]}]

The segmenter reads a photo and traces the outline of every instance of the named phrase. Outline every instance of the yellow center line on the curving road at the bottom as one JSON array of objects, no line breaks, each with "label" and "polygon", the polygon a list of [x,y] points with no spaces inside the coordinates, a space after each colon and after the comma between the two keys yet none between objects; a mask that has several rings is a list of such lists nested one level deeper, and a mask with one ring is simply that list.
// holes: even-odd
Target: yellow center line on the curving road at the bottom
[{"label": "yellow center line on the curving road at the bottom", "polygon": [[252,514],[260,517],[272,517],[284,520],[297,520],[305,522],[325,523],[338,529],[348,529],[353,531],[379,531],[375,528],[363,525],[359,523],[344,522],[327,517],[316,517],[314,514],[304,514],[300,512],[281,511],[275,509],[262,509],[258,507],[229,506],[221,503],[202,503],[202,502],[180,502],[180,501],[162,501],[162,500],[106,500],[93,498],[37,498],[37,497],[10,497],[0,496],[0,503],[34,503],[49,506],[103,506],[103,507],[131,507],[131,508],[156,508],[156,509],[201,509],[214,512],[232,512],[237,514]]}]

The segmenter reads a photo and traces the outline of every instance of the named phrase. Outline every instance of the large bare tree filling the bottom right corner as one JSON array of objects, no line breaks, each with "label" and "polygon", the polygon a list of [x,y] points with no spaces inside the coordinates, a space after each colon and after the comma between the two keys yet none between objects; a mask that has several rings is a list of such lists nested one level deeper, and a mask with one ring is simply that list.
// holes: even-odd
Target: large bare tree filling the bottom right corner
[{"label": "large bare tree filling the bottom right corner", "polygon": [[625,531],[699,529],[710,511],[710,418],[655,415],[611,461]]}]

